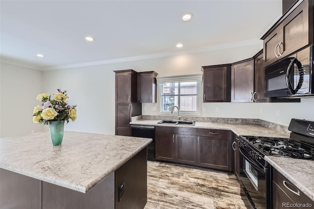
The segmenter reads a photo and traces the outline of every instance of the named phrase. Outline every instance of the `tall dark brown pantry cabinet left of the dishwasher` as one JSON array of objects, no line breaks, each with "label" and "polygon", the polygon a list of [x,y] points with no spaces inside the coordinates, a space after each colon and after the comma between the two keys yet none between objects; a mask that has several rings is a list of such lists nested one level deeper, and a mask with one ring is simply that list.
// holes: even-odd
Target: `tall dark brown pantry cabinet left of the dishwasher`
[{"label": "tall dark brown pantry cabinet left of the dishwasher", "polygon": [[133,70],[115,72],[115,134],[131,136],[131,117],[142,114],[142,104],[136,103],[136,77]]}]

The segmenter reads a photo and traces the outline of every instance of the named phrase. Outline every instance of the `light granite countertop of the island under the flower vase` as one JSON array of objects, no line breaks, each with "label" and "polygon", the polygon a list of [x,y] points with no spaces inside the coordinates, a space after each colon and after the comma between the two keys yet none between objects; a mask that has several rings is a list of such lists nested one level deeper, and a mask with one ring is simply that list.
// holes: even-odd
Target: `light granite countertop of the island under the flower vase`
[{"label": "light granite countertop of the island under the flower vase", "polygon": [[152,139],[65,131],[0,138],[0,168],[86,193],[144,149]]}]

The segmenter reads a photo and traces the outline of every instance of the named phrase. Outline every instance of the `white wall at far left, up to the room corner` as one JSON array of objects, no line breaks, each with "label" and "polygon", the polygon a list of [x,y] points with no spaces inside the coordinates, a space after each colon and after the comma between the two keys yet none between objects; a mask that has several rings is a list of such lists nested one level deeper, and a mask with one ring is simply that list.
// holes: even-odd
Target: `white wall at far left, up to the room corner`
[{"label": "white wall at far left, up to the room corner", "polygon": [[43,130],[32,121],[41,79],[42,71],[0,62],[0,137]]}]

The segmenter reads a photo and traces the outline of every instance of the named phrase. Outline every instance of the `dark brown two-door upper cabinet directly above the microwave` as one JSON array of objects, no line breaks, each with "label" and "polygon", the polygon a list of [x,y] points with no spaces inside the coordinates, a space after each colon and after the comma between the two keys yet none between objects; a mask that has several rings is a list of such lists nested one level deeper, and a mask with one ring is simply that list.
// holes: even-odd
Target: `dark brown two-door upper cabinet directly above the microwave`
[{"label": "dark brown two-door upper cabinet directly above the microwave", "polygon": [[313,43],[313,1],[288,11],[262,37],[265,66]]}]

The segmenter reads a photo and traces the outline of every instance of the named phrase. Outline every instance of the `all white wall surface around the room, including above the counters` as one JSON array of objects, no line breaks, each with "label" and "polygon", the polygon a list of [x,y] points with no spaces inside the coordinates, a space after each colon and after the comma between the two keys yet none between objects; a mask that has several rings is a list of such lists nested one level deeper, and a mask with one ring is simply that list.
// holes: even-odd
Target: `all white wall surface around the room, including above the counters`
[{"label": "all white wall surface around the room, including above the counters", "polygon": [[[32,110],[38,104],[35,97],[44,92],[52,95],[58,88],[67,90],[69,104],[78,105],[78,119],[66,124],[65,130],[114,134],[114,70],[156,71],[160,77],[201,74],[201,66],[243,60],[252,57],[260,49],[261,46],[253,45],[42,72],[1,63],[0,136],[48,130],[48,126],[32,123]],[[216,107],[220,108],[219,112],[216,112]],[[291,104],[205,103],[202,104],[201,116],[260,118],[288,126],[291,118],[314,121],[313,107],[314,98]],[[276,116],[277,109],[279,116]],[[143,115],[158,115],[157,110],[157,104],[142,104]]]}]

